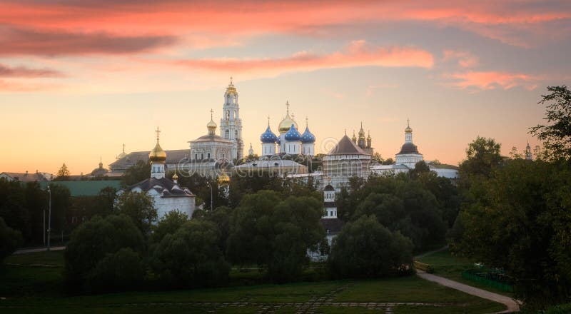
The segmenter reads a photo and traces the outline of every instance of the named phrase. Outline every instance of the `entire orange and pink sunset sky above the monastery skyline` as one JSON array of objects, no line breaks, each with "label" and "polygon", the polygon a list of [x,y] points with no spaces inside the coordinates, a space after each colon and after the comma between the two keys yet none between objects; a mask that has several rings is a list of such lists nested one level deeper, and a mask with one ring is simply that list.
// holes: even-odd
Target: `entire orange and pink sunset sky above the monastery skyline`
[{"label": "entire orange and pink sunset sky above the monastery skyline", "polygon": [[[119,3],[121,2],[121,3]],[[571,1],[0,1],[2,171],[89,173],[99,156],[188,148],[233,76],[243,138],[308,117],[316,151],[363,121],[394,158],[476,136],[520,150],[546,86],[571,85]]]}]

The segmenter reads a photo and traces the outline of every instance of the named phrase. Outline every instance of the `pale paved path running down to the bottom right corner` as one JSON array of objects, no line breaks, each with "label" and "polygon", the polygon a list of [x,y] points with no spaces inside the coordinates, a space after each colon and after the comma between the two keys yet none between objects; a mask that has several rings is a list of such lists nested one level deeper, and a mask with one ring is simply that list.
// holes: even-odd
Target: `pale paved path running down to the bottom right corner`
[{"label": "pale paved path running down to the bottom right corner", "polygon": [[446,287],[462,291],[463,293],[468,293],[470,295],[475,295],[475,296],[480,297],[480,298],[492,300],[492,301],[495,301],[497,303],[502,303],[505,306],[507,306],[507,310],[499,312],[499,313],[512,313],[512,312],[519,312],[520,311],[521,302],[518,300],[514,300],[510,297],[507,297],[505,295],[492,293],[490,291],[475,288],[471,285],[465,285],[463,283],[458,283],[458,281],[450,280],[450,279],[443,278],[443,277],[433,275],[430,273],[425,273],[421,270],[418,270],[416,275],[418,275],[418,277],[423,278],[425,280],[433,281],[434,283],[438,283],[440,285],[444,285]]}]

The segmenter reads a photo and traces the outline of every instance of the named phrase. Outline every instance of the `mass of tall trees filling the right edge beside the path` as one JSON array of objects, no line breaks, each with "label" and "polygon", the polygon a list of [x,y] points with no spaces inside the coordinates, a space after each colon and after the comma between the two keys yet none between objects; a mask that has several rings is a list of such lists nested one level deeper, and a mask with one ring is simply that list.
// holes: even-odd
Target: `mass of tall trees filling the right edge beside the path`
[{"label": "mass of tall trees filling the right edge beside the path", "polygon": [[547,124],[530,128],[543,141],[535,161],[502,158],[491,138],[470,143],[449,238],[453,252],[503,268],[530,308],[571,297],[571,92],[548,91]]}]

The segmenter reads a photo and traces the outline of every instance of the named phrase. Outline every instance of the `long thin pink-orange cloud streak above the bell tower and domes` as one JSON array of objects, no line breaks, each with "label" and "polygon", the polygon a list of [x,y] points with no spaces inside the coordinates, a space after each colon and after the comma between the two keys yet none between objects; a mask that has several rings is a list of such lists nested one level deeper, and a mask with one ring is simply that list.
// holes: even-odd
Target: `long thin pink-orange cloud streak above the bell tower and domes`
[{"label": "long thin pink-orange cloud streak above the bell tower and domes", "polygon": [[431,68],[433,56],[414,47],[368,46],[365,41],[353,41],[346,51],[332,54],[298,54],[275,59],[186,59],[168,61],[193,69],[277,75],[287,71],[313,71],[316,69],[348,68],[354,66],[420,67]]}]

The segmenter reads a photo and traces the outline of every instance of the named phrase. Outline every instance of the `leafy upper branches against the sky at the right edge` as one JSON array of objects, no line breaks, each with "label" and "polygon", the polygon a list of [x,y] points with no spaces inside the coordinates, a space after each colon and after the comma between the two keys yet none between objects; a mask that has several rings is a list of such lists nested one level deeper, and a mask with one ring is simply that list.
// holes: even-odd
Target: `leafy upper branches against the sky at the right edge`
[{"label": "leafy upper branches against the sky at the right edge", "polygon": [[537,124],[530,133],[543,141],[543,151],[547,160],[571,158],[571,91],[567,86],[548,86],[547,95],[538,102],[547,106],[547,125]]}]

